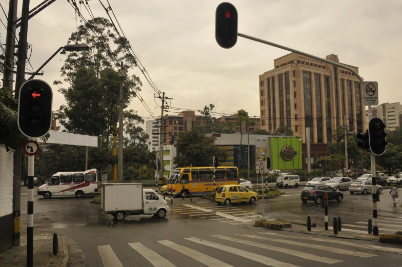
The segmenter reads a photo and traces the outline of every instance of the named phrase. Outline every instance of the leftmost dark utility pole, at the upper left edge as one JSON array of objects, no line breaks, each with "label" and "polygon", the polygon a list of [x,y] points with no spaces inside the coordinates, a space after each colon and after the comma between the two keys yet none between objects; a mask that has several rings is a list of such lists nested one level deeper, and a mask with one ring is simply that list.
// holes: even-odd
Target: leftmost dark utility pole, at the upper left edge
[{"label": "leftmost dark utility pole, at the upper left edge", "polygon": [[6,34],[6,53],[4,59],[3,87],[8,89],[12,94],[13,77],[14,77],[14,44],[15,30],[14,24],[17,19],[18,0],[10,0],[8,6],[7,34]]}]

